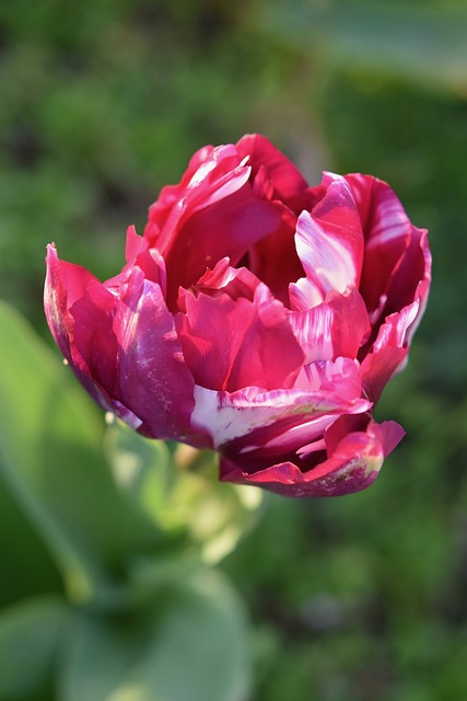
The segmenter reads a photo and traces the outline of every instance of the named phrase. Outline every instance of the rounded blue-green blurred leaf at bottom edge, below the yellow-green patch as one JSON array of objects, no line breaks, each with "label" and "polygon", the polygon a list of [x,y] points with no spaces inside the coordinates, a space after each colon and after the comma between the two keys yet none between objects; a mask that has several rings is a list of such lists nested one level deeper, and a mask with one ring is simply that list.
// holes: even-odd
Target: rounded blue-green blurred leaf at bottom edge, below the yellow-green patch
[{"label": "rounded blue-green blurred leaf at bottom edge, below the yellow-green patch", "polygon": [[242,701],[248,650],[242,602],[202,570],[131,617],[82,617],[65,652],[62,701]]}]

